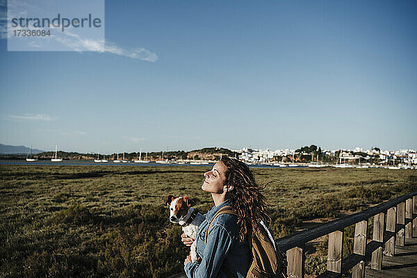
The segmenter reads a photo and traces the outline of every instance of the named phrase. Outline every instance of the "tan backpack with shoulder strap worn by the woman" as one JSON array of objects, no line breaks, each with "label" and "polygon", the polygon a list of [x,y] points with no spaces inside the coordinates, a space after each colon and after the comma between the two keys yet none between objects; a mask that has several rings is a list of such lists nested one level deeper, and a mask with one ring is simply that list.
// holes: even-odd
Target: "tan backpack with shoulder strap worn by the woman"
[{"label": "tan backpack with shoulder strap worn by the woman", "polygon": [[[221,214],[233,214],[237,216],[236,211],[231,206],[224,206],[215,213],[211,223]],[[208,231],[211,223],[208,224],[206,236],[204,237],[204,246],[207,244]],[[261,222],[259,231],[252,236],[248,236],[249,247],[252,250],[252,263],[247,271],[246,278],[286,278],[287,260],[286,254],[279,250],[279,247],[273,242],[274,238],[268,231],[268,228]],[[227,276],[231,276],[227,273]]]}]

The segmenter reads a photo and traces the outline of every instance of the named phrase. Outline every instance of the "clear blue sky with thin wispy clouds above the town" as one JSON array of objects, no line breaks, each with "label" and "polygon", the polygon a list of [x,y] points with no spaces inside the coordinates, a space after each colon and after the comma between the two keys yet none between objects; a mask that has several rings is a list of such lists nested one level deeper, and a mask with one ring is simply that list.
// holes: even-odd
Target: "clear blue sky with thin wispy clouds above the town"
[{"label": "clear blue sky with thin wispy clouds above the town", "polygon": [[101,51],[8,51],[3,33],[0,143],[417,149],[416,13],[416,1],[105,1]]}]

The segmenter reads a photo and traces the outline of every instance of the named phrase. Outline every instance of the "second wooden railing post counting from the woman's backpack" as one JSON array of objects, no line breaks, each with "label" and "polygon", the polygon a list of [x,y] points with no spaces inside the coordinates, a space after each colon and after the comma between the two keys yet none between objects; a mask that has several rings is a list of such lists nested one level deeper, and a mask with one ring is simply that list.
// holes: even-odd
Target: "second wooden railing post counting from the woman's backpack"
[{"label": "second wooden railing post counting from the woman's backpack", "polygon": [[329,247],[327,250],[327,270],[341,273],[343,256],[343,231],[334,231],[329,234]]}]

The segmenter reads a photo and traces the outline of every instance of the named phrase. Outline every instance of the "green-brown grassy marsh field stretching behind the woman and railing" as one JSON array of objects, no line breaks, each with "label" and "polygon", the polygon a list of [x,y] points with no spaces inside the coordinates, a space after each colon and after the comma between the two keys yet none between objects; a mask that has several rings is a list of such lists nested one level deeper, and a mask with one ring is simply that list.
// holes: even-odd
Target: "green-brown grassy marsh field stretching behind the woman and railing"
[{"label": "green-brown grassy marsh field stretching behind the woman and railing", "polygon": [[[0,277],[167,277],[188,253],[163,199],[187,194],[205,213],[206,167],[0,165]],[[337,218],[417,190],[416,170],[253,169],[269,183],[276,238],[303,220]],[[349,245],[346,233],[346,244]],[[345,248],[349,252],[349,248]],[[325,241],[307,257],[315,274]]]}]

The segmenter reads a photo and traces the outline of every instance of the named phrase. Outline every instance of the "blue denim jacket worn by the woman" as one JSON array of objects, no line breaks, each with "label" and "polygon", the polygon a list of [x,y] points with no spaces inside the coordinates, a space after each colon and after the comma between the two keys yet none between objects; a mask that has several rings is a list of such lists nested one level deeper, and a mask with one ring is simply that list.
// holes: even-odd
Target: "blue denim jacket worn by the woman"
[{"label": "blue denim jacket worn by the woman", "polygon": [[196,236],[197,253],[202,260],[184,265],[188,278],[246,277],[251,254],[247,240],[240,241],[236,215],[218,216],[211,224],[204,247],[208,224],[220,208],[229,205],[229,200],[224,201],[204,215],[206,220],[199,225]]}]

